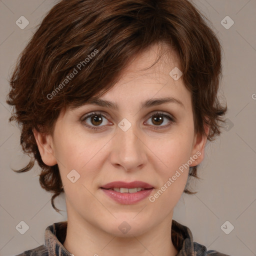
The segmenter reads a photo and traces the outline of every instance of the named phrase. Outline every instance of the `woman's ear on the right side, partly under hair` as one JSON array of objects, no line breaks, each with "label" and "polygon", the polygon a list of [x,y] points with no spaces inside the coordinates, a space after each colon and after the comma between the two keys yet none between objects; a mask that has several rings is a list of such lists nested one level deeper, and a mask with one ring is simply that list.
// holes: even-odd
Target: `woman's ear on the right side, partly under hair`
[{"label": "woman's ear on the right side, partly under hair", "polygon": [[[196,133],[194,136],[192,155],[190,157],[190,159],[193,158],[194,160],[189,164],[190,167],[199,164],[204,158],[204,147],[207,141],[207,135],[209,134],[209,126],[204,124],[203,127],[206,135]],[[197,158],[195,158],[196,156]]]}]

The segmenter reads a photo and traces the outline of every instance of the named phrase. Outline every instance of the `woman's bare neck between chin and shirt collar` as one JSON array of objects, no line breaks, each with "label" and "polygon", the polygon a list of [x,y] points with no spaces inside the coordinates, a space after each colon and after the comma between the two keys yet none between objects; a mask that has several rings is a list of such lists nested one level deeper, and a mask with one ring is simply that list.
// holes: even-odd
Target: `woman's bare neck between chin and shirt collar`
[{"label": "woman's bare neck between chin and shirt collar", "polygon": [[153,229],[129,237],[107,233],[81,216],[67,216],[63,246],[75,256],[175,256],[178,252],[171,241],[172,215],[167,216]]}]

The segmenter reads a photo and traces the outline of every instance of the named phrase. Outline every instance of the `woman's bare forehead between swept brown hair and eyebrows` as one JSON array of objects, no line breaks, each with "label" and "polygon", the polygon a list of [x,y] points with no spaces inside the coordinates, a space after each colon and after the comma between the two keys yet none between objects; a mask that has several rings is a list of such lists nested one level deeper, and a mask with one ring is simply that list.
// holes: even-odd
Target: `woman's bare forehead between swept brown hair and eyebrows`
[{"label": "woman's bare forehead between swept brown hair and eyebrows", "polygon": [[178,55],[166,44],[160,47],[158,44],[151,45],[134,56],[122,71],[118,82],[100,98],[111,101],[119,99],[120,103],[136,105],[149,98],[169,96],[190,106],[191,95],[183,83],[182,75],[177,80],[172,76],[173,69],[175,72],[180,71],[179,75],[182,74]]}]

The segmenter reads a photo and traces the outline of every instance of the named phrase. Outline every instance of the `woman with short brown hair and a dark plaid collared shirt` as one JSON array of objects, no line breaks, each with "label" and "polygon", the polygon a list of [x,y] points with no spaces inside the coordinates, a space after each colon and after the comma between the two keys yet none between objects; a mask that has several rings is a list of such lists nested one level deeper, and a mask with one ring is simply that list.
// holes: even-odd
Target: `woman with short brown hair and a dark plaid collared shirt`
[{"label": "woman with short brown hair and a dark plaid collared shirt", "polygon": [[187,0],[62,0],[47,13],[7,102],[67,221],[19,255],[226,255],[172,219],[226,111],[204,19]]}]

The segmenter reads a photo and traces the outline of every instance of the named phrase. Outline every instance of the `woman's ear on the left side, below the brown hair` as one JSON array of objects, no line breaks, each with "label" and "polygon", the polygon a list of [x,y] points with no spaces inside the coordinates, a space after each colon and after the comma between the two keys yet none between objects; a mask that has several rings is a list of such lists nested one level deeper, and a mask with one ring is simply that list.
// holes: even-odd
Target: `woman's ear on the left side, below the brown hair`
[{"label": "woman's ear on the left side, below the brown hair", "polygon": [[49,166],[55,165],[57,161],[54,156],[52,136],[47,133],[39,132],[35,128],[33,129],[33,134],[42,161]]}]

